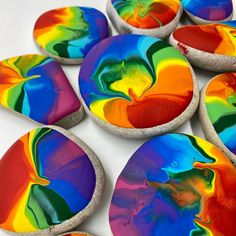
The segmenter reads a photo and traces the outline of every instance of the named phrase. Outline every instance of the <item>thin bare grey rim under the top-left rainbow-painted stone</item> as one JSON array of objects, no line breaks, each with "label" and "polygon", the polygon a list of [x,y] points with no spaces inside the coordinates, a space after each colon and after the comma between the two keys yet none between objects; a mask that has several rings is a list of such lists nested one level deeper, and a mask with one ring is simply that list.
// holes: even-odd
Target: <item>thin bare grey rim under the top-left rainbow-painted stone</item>
[{"label": "thin bare grey rim under the top-left rainbow-painted stone", "polygon": [[59,57],[56,56],[52,53],[49,53],[46,49],[44,49],[35,39],[34,34],[33,34],[33,41],[36,46],[36,48],[41,52],[43,55],[53,58],[55,61],[57,61],[60,64],[64,65],[80,65],[83,62],[84,58],[75,58],[75,59],[69,59],[69,58],[64,58],[64,57]]}]

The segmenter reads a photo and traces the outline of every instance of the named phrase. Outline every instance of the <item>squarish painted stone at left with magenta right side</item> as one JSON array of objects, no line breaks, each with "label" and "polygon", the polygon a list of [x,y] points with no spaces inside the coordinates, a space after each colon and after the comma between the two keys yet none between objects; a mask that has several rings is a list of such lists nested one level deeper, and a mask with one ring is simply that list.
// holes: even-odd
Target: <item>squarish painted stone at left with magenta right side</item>
[{"label": "squarish painted stone at left with magenta right side", "polygon": [[83,108],[60,65],[43,55],[0,62],[0,104],[36,122],[69,128]]}]

